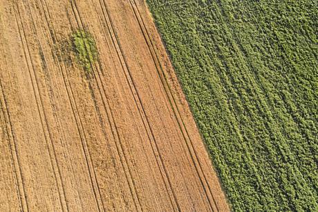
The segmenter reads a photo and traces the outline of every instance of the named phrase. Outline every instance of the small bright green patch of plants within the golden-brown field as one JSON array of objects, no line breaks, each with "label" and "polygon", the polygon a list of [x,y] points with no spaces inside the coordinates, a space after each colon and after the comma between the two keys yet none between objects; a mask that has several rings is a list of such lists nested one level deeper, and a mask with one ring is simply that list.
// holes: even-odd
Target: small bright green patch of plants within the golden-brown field
[{"label": "small bright green patch of plants within the golden-brown field", "polygon": [[97,60],[97,47],[92,35],[85,30],[77,30],[71,35],[71,42],[77,63],[85,71],[91,71],[92,63]]}]

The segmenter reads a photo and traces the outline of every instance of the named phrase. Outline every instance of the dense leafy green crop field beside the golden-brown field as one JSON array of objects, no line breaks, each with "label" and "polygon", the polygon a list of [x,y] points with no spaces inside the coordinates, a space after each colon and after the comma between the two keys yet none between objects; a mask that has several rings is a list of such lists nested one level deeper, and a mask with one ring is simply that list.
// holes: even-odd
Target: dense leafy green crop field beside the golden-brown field
[{"label": "dense leafy green crop field beside the golden-brown field", "polygon": [[318,211],[317,1],[147,0],[234,211]]}]

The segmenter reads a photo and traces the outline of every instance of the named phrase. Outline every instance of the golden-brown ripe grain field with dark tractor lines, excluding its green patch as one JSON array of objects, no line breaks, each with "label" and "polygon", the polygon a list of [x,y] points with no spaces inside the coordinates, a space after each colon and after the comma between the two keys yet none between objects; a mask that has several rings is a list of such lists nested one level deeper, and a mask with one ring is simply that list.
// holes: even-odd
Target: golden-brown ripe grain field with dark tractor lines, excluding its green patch
[{"label": "golden-brown ripe grain field with dark tractor lines, excluding its green patch", "polygon": [[0,0],[0,108],[0,211],[229,210],[141,0]]}]

